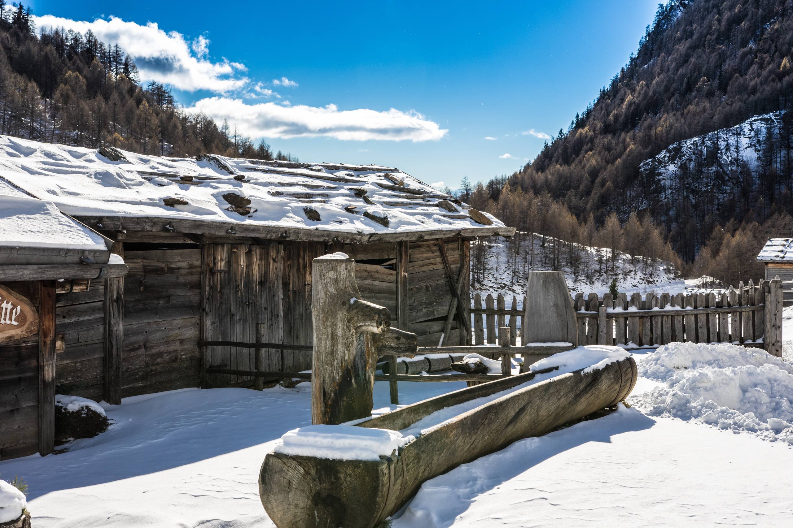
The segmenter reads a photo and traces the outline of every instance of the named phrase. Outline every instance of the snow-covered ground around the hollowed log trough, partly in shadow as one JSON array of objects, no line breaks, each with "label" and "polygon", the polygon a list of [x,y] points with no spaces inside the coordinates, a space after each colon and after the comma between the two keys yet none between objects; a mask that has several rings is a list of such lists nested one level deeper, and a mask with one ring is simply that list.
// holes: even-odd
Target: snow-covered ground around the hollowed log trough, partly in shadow
[{"label": "snow-covered ground around the hollowed log trough, partly in shadow", "polygon": [[[764,440],[751,427],[722,430],[703,413],[676,417],[656,407],[667,396],[711,399],[714,405],[685,408],[721,406],[744,418],[754,411],[757,423],[781,433],[793,368],[761,354],[730,345],[634,354],[641,377],[630,408],[515,442],[429,480],[393,526],[787,526],[791,438]],[[741,369],[751,371],[754,386],[742,385]],[[409,404],[463,386],[400,383],[400,399]],[[105,405],[115,420],[106,433],[72,442],[66,453],[0,462],[0,474],[28,482],[36,528],[273,526],[259,502],[259,466],[282,434],[310,422],[309,388],[127,398]],[[377,382],[377,412],[391,407],[388,398],[388,385]]]}]

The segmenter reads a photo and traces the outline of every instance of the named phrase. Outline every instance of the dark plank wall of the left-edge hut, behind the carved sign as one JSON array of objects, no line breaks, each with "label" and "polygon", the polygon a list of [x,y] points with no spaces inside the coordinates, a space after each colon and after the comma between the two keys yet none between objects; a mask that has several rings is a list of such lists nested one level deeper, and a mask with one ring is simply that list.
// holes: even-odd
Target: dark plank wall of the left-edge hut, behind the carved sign
[{"label": "dark plank wall of the left-edge hut, behind the carved sign", "polygon": [[[3,282],[39,308],[37,282]],[[39,450],[39,334],[0,345],[0,460]]]}]

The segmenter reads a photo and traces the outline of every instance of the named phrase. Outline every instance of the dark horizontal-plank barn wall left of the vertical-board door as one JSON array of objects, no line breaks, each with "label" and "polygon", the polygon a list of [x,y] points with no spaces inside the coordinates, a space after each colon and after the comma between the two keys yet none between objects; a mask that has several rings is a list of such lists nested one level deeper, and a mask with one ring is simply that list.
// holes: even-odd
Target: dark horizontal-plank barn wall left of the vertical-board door
[{"label": "dark horizontal-plank barn wall left of the vertical-board door", "polygon": [[[201,249],[127,250],[125,262],[121,396],[197,387]],[[102,399],[104,297],[104,281],[57,297],[59,393]]]}]

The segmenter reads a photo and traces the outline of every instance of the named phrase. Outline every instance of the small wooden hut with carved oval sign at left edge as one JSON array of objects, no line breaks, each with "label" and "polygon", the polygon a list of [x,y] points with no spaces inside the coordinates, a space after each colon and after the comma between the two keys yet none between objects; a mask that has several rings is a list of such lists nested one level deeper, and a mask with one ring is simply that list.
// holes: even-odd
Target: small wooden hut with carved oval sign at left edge
[{"label": "small wooden hut with carved oval sign at left edge", "polygon": [[126,273],[110,244],[0,179],[0,459],[52,452],[59,307],[66,292],[102,295],[105,277]]}]

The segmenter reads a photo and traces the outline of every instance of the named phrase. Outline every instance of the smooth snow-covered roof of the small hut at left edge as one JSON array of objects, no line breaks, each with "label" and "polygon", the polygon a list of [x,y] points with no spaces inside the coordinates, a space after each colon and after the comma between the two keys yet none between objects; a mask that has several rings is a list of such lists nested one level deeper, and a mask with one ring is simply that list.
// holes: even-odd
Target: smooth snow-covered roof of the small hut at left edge
[{"label": "smooth snow-covered roof of the small hut at left edge", "polygon": [[[105,239],[0,178],[0,247],[107,251]],[[2,264],[3,262],[0,262]]]}]

